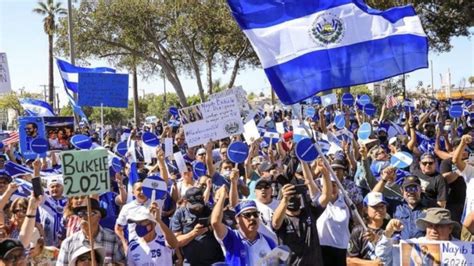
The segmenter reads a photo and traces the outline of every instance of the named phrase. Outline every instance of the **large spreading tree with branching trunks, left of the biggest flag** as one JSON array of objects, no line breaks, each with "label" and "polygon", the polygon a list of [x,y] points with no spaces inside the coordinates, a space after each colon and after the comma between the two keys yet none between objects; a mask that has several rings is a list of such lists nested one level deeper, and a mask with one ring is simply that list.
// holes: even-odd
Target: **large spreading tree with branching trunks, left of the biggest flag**
[{"label": "large spreading tree with branching trunks, left of the biggest flag", "polygon": [[[225,2],[191,1],[81,1],[75,10],[74,35],[77,56],[118,57],[131,55],[142,60],[142,74],[163,71],[173,85],[180,104],[186,95],[180,74],[196,80],[201,100],[201,76],[208,72],[212,92],[212,67],[232,70],[228,86],[233,86],[238,70],[258,64],[248,40],[228,12]],[[61,21],[59,51],[68,52],[67,22]],[[113,59],[112,59],[113,60]]]}]

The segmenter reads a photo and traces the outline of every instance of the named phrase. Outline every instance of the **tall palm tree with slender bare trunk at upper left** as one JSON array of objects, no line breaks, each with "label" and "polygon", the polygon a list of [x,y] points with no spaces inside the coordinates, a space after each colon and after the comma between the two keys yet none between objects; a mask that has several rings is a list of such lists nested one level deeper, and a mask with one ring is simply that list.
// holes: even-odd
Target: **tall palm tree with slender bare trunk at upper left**
[{"label": "tall palm tree with slender bare trunk at upper left", "polygon": [[61,3],[54,3],[54,0],[38,2],[38,7],[33,12],[45,16],[43,19],[44,32],[48,35],[49,44],[49,104],[54,106],[54,71],[53,71],[53,39],[56,30],[56,15],[66,15],[66,9],[61,7]]}]

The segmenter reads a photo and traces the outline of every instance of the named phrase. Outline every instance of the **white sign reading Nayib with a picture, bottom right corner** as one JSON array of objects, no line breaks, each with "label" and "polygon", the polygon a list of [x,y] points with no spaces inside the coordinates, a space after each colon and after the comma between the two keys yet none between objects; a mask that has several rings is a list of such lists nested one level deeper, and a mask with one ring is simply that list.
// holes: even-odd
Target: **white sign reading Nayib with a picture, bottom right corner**
[{"label": "white sign reading Nayib with a picture, bottom right corner", "polygon": [[470,265],[474,246],[463,241],[405,240],[400,244],[400,265]]}]

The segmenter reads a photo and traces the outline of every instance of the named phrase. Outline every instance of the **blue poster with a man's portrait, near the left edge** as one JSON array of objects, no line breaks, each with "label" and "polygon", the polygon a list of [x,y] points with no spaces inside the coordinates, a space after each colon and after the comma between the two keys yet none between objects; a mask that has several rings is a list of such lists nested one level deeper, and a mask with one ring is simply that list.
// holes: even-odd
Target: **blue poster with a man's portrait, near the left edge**
[{"label": "blue poster with a man's portrait, near the left edge", "polygon": [[[20,152],[25,159],[35,159],[37,154],[31,149],[31,142],[36,138],[45,138],[42,117],[20,117],[18,119]],[[46,154],[40,154],[41,157]]]}]

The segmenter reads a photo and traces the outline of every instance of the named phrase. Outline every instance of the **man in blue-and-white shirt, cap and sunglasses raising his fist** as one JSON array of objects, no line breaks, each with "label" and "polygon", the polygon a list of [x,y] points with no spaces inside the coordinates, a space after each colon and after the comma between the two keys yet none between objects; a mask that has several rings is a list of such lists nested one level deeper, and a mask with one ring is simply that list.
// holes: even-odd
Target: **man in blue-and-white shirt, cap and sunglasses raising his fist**
[{"label": "man in blue-and-white shirt, cap and sunglasses raising his fist", "polygon": [[222,222],[222,209],[227,197],[227,189],[222,186],[217,191],[217,202],[212,210],[211,225],[221,246],[225,249],[225,262],[229,265],[258,265],[275,248],[275,242],[258,233],[260,214],[253,200],[241,201],[235,207],[239,229],[232,230]]}]

